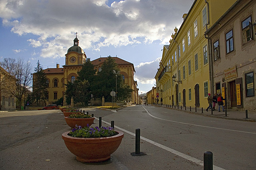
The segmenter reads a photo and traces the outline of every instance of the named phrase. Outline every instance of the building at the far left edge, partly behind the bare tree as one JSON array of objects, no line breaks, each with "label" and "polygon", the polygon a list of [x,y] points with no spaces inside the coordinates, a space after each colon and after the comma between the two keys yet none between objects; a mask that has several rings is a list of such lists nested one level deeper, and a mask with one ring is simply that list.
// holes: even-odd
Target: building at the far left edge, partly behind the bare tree
[{"label": "building at the far left edge, partly behind the bare tree", "polygon": [[11,76],[0,66],[0,109],[15,110],[16,97],[8,93],[9,89],[15,89],[15,77]]}]

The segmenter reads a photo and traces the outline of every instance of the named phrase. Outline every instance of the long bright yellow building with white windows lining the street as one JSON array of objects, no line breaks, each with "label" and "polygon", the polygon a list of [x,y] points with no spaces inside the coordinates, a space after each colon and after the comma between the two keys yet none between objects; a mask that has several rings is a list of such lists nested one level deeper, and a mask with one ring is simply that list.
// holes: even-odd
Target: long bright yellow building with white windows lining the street
[{"label": "long bright yellow building with white windows lining the street", "polygon": [[[157,92],[163,104],[207,107],[210,82],[209,45],[204,32],[236,0],[195,0],[188,14],[182,16],[180,29],[174,29],[169,45],[164,45],[156,73]],[[172,80],[174,78],[175,81]],[[160,99],[159,99],[160,101]]]}]

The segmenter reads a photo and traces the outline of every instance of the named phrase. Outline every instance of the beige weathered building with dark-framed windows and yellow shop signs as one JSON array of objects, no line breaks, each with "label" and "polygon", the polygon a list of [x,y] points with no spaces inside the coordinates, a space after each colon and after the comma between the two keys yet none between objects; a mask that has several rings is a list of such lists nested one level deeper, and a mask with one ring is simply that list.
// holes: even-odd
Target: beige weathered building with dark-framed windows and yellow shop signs
[{"label": "beige weathered building with dark-framed windows and yellow shop signs", "polygon": [[237,1],[206,35],[212,49],[214,93],[228,109],[256,111],[256,0]]}]

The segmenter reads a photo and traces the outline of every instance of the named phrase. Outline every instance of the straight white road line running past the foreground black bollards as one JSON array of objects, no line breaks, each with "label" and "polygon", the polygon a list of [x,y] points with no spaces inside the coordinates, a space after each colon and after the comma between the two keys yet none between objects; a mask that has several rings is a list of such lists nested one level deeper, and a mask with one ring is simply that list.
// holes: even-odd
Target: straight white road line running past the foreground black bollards
[{"label": "straight white road line running past the foreground black bollards", "polygon": [[[99,120],[99,119],[96,118],[96,117],[95,117],[95,119]],[[106,122],[106,121],[103,121],[103,120],[102,120],[102,122],[104,122],[104,123],[106,123],[106,124],[108,124],[108,125],[111,125],[110,123],[108,123],[108,122]],[[128,133],[128,134],[130,134],[130,135],[132,135],[132,136],[135,137],[135,133],[132,133],[132,132],[130,132],[130,131],[126,131],[125,129],[122,129],[121,127],[118,127],[118,126],[115,126],[115,128],[120,129],[121,131],[126,132],[126,133]],[[196,164],[198,164],[198,165],[200,165],[200,166],[204,166],[204,162],[203,162],[202,160],[193,158],[193,157],[191,157],[191,156],[188,156],[188,155],[186,155],[186,154],[184,154],[184,153],[181,153],[181,152],[179,152],[179,151],[177,151],[177,150],[174,150],[174,149],[171,149],[171,148],[166,147],[166,146],[164,146],[164,145],[161,145],[160,143],[156,143],[156,142],[154,142],[154,141],[151,141],[150,139],[144,138],[144,137],[142,137],[142,136],[140,136],[140,139],[142,139],[142,140],[144,140],[144,141],[146,141],[146,142],[148,142],[148,143],[151,143],[151,144],[153,144],[153,145],[155,145],[155,146],[157,146],[157,147],[160,147],[160,148],[162,148],[162,149],[164,149],[164,150],[167,150],[167,151],[169,151],[169,152],[171,152],[171,153],[173,153],[173,154],[176,154],[176,155],[178,155],[178,156],[180,156],[180,157],[182,157],[182,158],[185,158],[186,160],[195,162]],[[220,168],[220,167],[215,166],[215,165],[213,165],[213,168],[214,168],[214,170],[225,170],[225,169]]]}]

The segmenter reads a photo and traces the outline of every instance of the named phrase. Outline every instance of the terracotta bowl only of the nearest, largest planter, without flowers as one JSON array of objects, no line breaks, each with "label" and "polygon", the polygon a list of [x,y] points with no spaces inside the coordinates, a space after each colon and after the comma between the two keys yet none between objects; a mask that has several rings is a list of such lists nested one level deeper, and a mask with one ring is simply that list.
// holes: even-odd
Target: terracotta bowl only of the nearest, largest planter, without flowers
[{"label": "terracotta bowl only of the nearest, largest planter, without flowers", "polygon": [[78,138],[68,136],[68,132],[62,133],[62,139],[70,152],[76,155],[80,162],[102,162],[110,159],[116,149],[118,149],[124,133],[116,131],[118,135],[100,138]]}]

